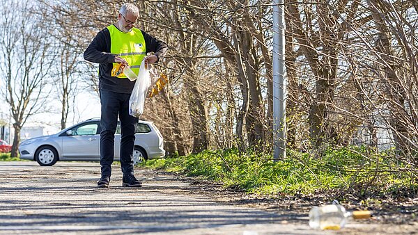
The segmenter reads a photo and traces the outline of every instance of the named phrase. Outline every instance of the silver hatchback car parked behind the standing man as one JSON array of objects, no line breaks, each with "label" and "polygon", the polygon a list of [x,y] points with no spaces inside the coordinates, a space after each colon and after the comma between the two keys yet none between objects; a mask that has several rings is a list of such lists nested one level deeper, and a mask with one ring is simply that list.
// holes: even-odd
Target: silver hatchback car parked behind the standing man
[{"label": "silver hatchback car parked behind the standing man", "polygon": [[[56,161],[100,161],[100,119],[89,119],[51,136],[24,140],[19,147],[20,159],[54,165]],[[115,161],[119,161],[121,126],[115,133]],[[134,163],[165,156],[163,138],[153,122],[139,120],[135,133]]]}]

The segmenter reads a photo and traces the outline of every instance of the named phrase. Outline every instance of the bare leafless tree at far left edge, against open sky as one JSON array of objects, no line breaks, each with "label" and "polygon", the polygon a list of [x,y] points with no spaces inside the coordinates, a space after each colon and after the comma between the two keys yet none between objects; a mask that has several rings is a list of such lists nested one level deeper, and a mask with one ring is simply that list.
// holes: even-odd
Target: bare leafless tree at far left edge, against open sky
[{"label": "bare leafless tree at far left edge, against open sky", "polygon": [[11,156],[18,156],[20,130],[28,117],[42,110],[49,95],[45,81],[51,66],[45,27],[31,13],[29,1],[3,0],[1,10],[1,70],[5,72],[6,90],[1,89],[10,105],[15,137]]}]

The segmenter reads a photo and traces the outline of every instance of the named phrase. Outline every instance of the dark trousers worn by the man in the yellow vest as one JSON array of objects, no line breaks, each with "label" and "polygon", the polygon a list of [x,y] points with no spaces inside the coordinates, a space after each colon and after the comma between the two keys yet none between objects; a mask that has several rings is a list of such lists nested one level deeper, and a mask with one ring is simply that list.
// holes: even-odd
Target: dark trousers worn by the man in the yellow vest
[{"label": "dark trousers worn by the man in the yellow vest", "polygon": [[111,175],[114,161],[115,131],[118,116],[121,120],[121,168],[124,176],[134,175],[134,141],[138,118],[129,115],[130,94],[100,90],[102,115],[100,117],[100,165],[102,177]]}]

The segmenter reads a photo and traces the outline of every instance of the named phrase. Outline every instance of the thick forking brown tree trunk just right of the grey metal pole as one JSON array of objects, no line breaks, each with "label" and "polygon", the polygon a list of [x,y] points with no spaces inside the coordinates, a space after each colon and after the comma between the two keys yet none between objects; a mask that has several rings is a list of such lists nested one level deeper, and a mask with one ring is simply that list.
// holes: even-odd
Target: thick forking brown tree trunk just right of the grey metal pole
[{"label": "thick forking brown tree trunk just right of the grey metal pole", "polygon": [[[304,9],[305,13],[313,10],[311,6],[304,6]],[[302,22],[297,6],[294,4],[288,6],[289,17],[291,17],[296,34],[295,39],[299,42],[302,53],[307,58],[309,67],[316,78],[316,94],[309,108],[309,136],[313,145],[318,148],[325,139],[335,136],[327,117],[330,104],[334,99],[334,82],[338,65],[336,42],[342,35],[339,31],[334,32],[334,29],[338,27],[335,25],[334,15],[330,14],[329,6],[320,4],[316,5],[316,9],[320,15],[317,25],[308,22],[309,16],[307,22]],[[304,25],[317,26],[318,30],[304,29]],[[322,47],[320,55],[316,51],[318,47]]]}]

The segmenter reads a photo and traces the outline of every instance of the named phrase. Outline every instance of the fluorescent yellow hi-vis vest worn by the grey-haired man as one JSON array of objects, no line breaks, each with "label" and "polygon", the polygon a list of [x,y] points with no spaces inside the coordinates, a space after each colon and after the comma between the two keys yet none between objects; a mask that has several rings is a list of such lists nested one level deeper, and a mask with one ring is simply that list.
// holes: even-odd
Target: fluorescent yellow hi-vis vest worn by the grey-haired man
[{"label": "fluorescent yellow hi-vis vest worn by the grey-haired man", "polygon": [[[141,30],[132,28],[129,33],[123,33],[113,24],[107,26],[107,29],[110,33],[110,53],[124,58],[132,71],[138,75],[141,62],[146,56],[145,40]],[[118,78],[126,79],[126,76],[123,74],[118,76]]]}]

